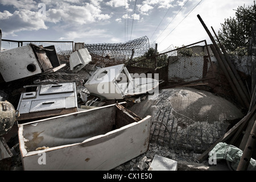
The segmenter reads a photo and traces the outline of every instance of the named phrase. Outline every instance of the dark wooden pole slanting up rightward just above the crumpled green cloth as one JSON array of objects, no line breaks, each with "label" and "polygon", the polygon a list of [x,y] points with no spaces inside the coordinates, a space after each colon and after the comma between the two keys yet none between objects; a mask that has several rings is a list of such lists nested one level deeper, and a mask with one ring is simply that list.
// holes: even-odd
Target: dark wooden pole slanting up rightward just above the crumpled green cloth
[{"label": "dark wooden pole slanting up rightward just above the crumpled green cloth", "polygon": [[243,122],[246,121],[246,118],[249,117],[251,113],[248,113],[245,117],[243,117],[236,125],[232,127],[228,132],[226,132],[220,139],[218,139],[212,146],[208,148],[203,154],[201,154],[197,160],[199,162],[203,162],[203,160],[207,159],[207,156],[209,155],[209,152],[216,146],[216,144],[220,142],[226,142],[230,137],[233,136],[233,134],[238,130],[238,128],[242,125]]}]

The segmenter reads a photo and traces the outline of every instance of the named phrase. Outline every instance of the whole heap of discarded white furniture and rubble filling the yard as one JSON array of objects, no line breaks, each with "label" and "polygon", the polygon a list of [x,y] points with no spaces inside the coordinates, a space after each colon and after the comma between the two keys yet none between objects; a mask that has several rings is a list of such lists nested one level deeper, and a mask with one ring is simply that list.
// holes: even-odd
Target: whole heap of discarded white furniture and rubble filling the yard
[{"label": "whole heap of discarded white furniture and rubble filling the yard", "polygon": [[62,57],[30,43],[0,59],[1,170],[235,170],[242,158],[224,142],[253,112],[189,83],[98,67],[84,47]]}]

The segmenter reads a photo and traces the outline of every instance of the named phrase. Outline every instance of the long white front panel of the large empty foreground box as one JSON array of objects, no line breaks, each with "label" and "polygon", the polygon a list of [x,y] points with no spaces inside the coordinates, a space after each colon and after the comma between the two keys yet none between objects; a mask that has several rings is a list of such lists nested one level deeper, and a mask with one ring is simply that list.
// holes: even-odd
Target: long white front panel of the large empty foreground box
[{"label": "long white front panel of the large empty foreground box", "polygon": [[[150,122],[147,117],[105,135],[69,146],[33,152],[23,158],[24,170],[110,170],[147,151]],[[46,164],[38,164],[46,152]]]}]

